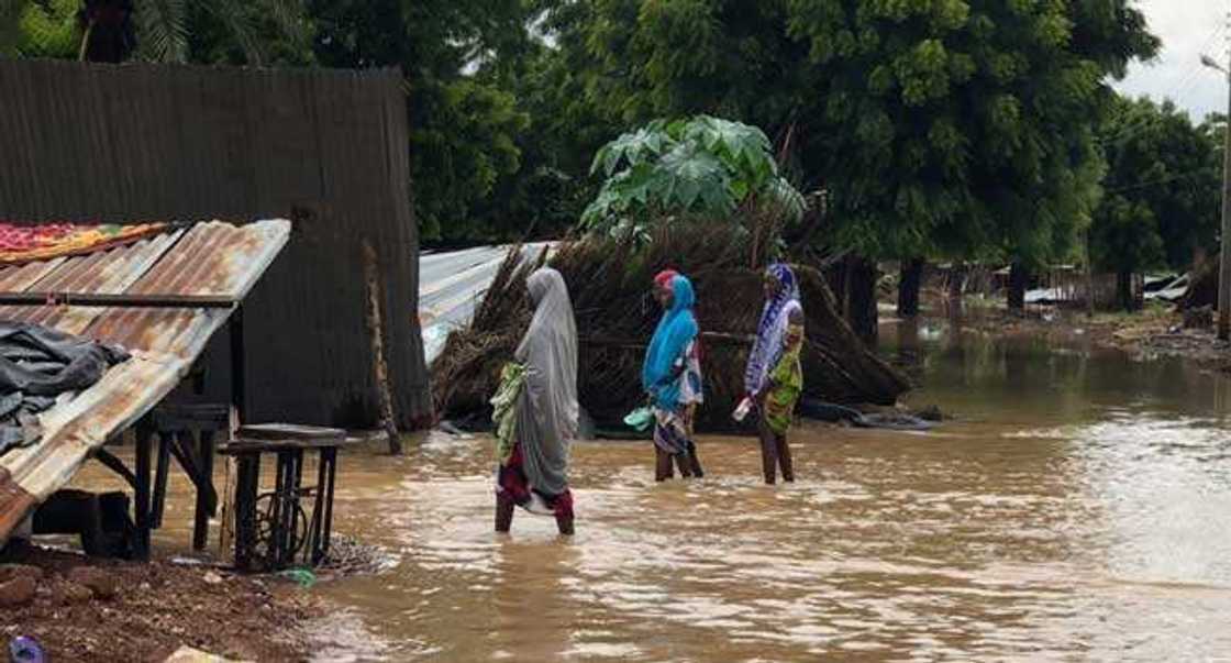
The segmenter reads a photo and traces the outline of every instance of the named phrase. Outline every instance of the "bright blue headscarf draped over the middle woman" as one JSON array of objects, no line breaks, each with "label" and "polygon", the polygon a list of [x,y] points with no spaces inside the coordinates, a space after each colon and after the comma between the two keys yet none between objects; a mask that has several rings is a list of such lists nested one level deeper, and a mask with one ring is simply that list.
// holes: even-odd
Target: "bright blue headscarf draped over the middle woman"
[{"label": "bright blue headscarf draped over the middle woman", "polygon": [[680,380],[675,364],[688,343],[697,338],[698,328],[692,311],[697,301],[692,281],[677,275],[671,281],[671,309],[662,314],[645,352],[641,387],[654,397],[655,405],[660,409],[675,412],[680,409]]}]

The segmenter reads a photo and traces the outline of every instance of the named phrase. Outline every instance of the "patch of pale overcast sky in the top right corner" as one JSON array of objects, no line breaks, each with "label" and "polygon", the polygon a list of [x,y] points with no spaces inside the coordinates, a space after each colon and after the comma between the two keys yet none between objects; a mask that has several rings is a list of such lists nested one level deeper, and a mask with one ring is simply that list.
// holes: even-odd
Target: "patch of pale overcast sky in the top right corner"
[{"label": "patch of pale overcast sky in the top right corner", "polygon": [[1214,110],[1226,111],[1226,84],[1199,58],[1204,52],[1224,65],[1227,62],[1231,0],[1137,0],[1137,6],[1162,38],[1162,51],[1153,62],[1133,65],[1115,86],[1130,95],[1169,97],[1197,121]]}]

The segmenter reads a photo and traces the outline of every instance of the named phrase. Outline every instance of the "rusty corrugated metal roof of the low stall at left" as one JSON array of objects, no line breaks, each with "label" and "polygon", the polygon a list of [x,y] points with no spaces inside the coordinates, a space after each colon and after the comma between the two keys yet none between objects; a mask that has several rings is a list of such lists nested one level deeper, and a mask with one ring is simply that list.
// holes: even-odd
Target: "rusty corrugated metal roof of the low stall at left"
[{"label": "rusty corrugated metal roof of the low stall at left", "polygon": [[[243,299],[291,237],[291,223],[212,222],[134,244],[0,269],[2,292],[213,295]],[[187,373],[229,308],[6,306],[0,318],[117,343],[132,359],[41,417],[38,444],[0,457],[0,543],[89,454],[135,423]]]}]

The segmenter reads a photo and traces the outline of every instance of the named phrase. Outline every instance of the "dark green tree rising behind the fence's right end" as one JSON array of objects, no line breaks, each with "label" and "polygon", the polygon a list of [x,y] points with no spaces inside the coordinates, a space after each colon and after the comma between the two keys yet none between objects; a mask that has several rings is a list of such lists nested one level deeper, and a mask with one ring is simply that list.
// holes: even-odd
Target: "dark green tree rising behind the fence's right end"
[{"label": "dark green tree rising behind the fence's right end", "polygon": [[517,0],[309,0],[327,67],[400,67],[411,200],[425,239],[487,239],[484,205],[522,170],[529,117],[507,80],[533,52]]}]

